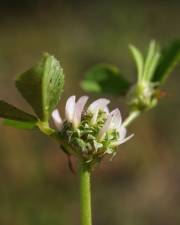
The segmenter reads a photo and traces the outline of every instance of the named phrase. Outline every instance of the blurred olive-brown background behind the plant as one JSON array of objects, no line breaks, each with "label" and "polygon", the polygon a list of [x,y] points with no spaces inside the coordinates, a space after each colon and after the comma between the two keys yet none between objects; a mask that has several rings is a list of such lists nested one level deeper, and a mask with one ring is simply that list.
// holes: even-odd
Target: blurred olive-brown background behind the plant
[{"label": "blurred olive-brown background behind the plant", "polygon": [[[180,36],[180,1],[0,1],[0,98],[31,109],[15,90],[16,75],[48,51],[66,74],[59,105],[80,96],[94,63],[108,62],[134,79],[128,51]],[[134,138],[93,173],[95,225],[180,224],[180,67],[157,108],[129,128]],[[94,99],[96,96],[92,96]],[[127,114],[124,101],[112,98]],[[0,224],[79,225],[78,176],[56,143],[38,132],[0,125]]]}]

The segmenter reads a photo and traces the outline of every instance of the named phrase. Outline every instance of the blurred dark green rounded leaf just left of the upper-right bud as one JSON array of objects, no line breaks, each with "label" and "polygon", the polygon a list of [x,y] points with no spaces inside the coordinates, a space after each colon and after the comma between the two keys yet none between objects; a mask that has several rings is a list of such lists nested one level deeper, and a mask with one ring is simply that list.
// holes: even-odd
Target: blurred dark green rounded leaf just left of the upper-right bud
[{"label": "blurred dark green rounded leaf just left of the upper-right bud", "polygon": [[125,95],[130,83],[115,66],[100,64],[85,74],[81,87],[84,91],[97,94]]}]

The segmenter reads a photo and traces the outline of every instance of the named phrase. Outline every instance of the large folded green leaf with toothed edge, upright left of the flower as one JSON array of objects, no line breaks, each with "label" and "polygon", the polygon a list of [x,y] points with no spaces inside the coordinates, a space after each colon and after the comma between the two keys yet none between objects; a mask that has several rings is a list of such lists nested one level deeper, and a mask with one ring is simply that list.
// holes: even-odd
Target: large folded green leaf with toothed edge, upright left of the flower
[{"label": "large folded green leaf with toothed edge, upright left of the flower", "polygon": [[63,86],[63,69],[55,57],[48,53],[16,79],[17,89],[41,121],[48,121],[58,104]]}]

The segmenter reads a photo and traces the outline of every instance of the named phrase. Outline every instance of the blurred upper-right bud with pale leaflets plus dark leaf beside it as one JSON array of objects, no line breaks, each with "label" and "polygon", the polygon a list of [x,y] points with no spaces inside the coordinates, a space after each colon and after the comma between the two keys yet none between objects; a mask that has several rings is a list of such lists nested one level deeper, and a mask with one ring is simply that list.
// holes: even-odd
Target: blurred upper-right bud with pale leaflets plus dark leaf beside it
[{"label": "blurred upper-right bud with pale leaflets plus dark leaf beside it", "polygon": [[155,107],[163,96],[161,87],[180,62],[180,41],[161,49],[152,40],[146,55],[133,45],[130,51],[137,68],[137,81],[128,92],[128,104],[131,111],[142,112]]}]

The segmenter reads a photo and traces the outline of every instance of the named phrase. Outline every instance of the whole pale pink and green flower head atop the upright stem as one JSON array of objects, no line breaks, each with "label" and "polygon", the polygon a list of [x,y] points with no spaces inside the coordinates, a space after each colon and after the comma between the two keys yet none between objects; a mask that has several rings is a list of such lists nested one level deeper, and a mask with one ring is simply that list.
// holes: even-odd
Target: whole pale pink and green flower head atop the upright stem
[{"label": "whole pale pink and green flower head atop the upright stem", "polygon": [[129,140],[126,128],[122,125],[119,109],[109,112],[106,98],[100,98],[85,109],[88,97],[68,98],[65,106],[65,119],[54,110],[54,124],[65,142],[70,154],[75,154],[87,163],[100,161],[105,154],[115,155],[117,146]]}]

